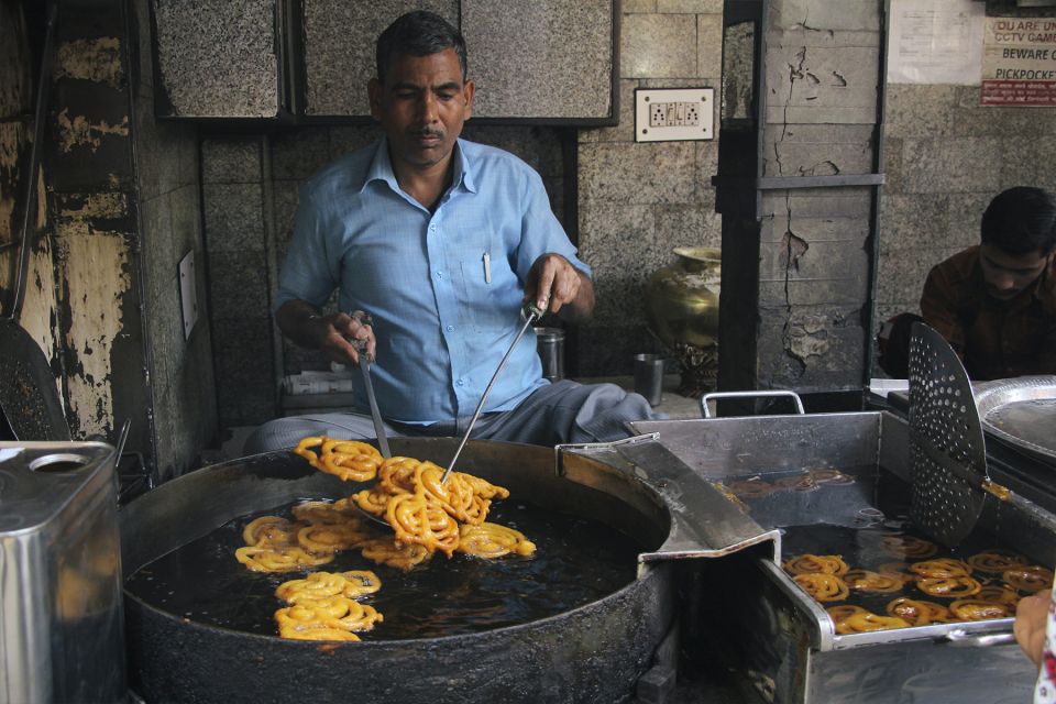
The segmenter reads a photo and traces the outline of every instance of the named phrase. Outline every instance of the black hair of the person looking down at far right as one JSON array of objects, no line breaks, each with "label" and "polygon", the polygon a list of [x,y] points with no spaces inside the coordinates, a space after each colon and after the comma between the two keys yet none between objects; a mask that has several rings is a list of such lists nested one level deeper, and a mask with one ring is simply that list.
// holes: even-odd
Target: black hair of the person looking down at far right
[{"label": "black hair of the person looking down at far right", "polygon": [[1048,254],[1056,246],[1056,196],[1030,186],[998,194],[982,213],[982,243],[1009,254]]}]

